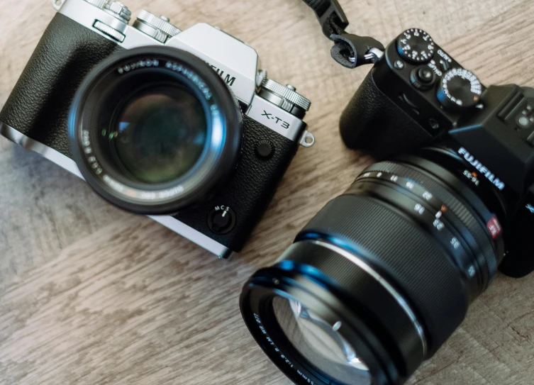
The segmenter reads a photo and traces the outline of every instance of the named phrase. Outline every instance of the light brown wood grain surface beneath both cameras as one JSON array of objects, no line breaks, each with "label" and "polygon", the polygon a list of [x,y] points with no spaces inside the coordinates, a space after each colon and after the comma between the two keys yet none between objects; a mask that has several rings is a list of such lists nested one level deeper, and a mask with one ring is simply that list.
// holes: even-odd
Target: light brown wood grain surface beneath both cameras
[{"label": "light brown wood grain surface beneath both cameras", "polygon": [[[350,30],[384,42],[420,27],[485,84],[534,86],[532,0],[341,1]],[[0,384],[290,384],[238,310],[243,283],[372,162],[338,118],[368,68],[330,59],[299,0],[128,0],[182,29],[211,23],[252,45],[269,77],[313,101],[301,149],[245,250],[217,260],[84,182],[0,140]],[[1,0],[0,107],[54,15]],[[534,277],[499,276],[409,384],[534,383]]]}]

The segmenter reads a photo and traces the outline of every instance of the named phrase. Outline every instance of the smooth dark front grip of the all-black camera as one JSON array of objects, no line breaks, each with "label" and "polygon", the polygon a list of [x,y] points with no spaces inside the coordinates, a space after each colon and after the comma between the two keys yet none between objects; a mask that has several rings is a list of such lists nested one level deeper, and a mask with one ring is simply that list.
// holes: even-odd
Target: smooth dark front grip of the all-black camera
[{"label": "smooth dark front grip of the all-black camera", "polygon": [[374,82],[372,69],[343,111],[341,138],[378,159],[411,151],[432,138]]}]

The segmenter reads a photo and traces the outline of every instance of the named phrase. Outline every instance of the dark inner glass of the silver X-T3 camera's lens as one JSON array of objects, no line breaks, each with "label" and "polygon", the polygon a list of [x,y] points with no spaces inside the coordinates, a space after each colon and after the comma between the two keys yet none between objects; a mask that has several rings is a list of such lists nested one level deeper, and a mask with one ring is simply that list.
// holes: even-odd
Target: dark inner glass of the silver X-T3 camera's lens
[{"label": "dark inner glass of the silver X-T3 camera's lens", "polygon": [[132,179],[171,182],[199,161],[208,134],[206,114],[185,87],[157,85],[136,91],[118,112],[110,148]]}]

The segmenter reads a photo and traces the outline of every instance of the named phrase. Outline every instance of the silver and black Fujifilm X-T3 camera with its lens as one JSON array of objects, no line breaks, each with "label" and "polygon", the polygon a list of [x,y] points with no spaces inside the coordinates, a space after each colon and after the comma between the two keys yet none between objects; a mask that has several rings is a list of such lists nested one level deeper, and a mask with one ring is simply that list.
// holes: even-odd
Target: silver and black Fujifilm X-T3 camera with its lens
[{"label": "silver and black Fujifilm X-T3 camera with its lens", "polygon": [[242,249],[311,103],[218,28],[66,0],[0,113],[0,133],[219,257]]}]

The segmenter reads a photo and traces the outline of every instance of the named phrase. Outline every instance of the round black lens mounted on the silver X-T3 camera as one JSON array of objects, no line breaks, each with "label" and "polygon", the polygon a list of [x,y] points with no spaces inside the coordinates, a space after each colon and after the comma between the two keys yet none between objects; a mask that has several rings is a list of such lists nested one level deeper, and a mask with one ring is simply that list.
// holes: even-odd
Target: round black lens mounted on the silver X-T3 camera
[{"label": "round black lens mounted on the silver X-T3 camera", "polygon": [[242,116],[205,62],[174,48],[119,52],[77,92],[69,118],[74,160],[118,207],[176,213],[228,182],[240,155]]}]

